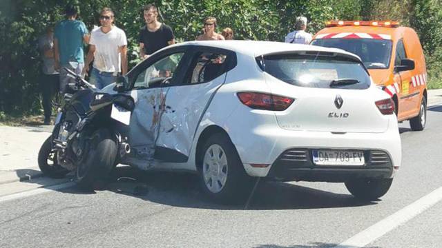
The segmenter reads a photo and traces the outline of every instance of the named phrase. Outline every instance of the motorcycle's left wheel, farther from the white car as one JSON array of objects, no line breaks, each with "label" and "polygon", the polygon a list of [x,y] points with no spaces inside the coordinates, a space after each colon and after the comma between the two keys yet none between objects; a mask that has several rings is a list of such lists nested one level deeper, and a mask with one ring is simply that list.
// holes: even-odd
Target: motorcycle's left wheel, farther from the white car
[{"label": "motorcycle's left wheel, farther from the white car", "polygon": [[57,152],[52,150],[52,135],[46,138],[46,141],[41,145],[38,163],[40,171],[50,178],[64,178],[69,172],[57,162]]}]

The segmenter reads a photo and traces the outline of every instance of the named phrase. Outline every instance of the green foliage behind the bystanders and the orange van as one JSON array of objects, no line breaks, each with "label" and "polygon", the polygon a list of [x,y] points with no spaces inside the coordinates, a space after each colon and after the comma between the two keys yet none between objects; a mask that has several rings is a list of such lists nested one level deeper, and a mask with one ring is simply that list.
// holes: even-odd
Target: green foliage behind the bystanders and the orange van
[{"label": "green foliage behind the bystanders and the orange van", "polygon": [[[1,0],[0,1],[0,112],[39,113],[37,39],[48,25],[64,19],[67,3],[79,6],[79,19],[89,30],[99,25],[99,10],[115,10],[115,24],[128,37],[133,67],[138,58],[137,38],[144,25],[145,0]],[[391,19],[411,25],[419,33],[427,54],[430,85],[442,86],[442,13],[439,0],[155,0],[160,21],[170,25],[178,42],[194,40],[202,21],[218,19],[218,32],[232,28],[236,39],[283,41],[296,16],[309,20],[316,33],[330,19]],[[439,80],[439,81],[438,81]],[[432,83],[435,82],[435,83]],[[439,83],[437,83],[439,82]]]}]

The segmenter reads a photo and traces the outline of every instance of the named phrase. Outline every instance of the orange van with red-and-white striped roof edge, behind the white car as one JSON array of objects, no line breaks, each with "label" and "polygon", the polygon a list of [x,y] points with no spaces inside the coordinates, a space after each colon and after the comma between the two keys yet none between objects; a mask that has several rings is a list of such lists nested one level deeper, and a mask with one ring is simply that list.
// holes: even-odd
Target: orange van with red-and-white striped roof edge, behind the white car
[{"label": "orange van with red-and-white striped roof edge, behind the white car", "polygon": [[398,121],[410,120],[412,130],[425,128],[427,69],[412,28],[394,21],[328,21],[311,45],[357,54],[374,83],[392,96]]}]

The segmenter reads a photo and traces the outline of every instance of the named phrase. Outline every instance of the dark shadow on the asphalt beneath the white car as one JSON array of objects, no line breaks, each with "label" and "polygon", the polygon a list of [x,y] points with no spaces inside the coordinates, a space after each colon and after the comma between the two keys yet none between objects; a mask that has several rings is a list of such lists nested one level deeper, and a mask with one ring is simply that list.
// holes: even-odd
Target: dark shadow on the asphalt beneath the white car
[{"label": "dark shadow on the asphalt beneath the white car", "polygon": [[[52,182],[52,183],[50,183]],[[42,186],[53,185],[53,180],[35,180]],[[131,167],[117,167],[102,190],[148,200],[174,207],[198,209],[322,209],[334,207],[359,207],[377,204],[361,202],[350,194],[335,194],[319,189],[289,183],[260,180],[249,204],[218,205],[204,198],[198,176],[172,172],[142,172]],[[79,187],[57,189],[68,194],[94,194]],[[247,206],[247,207],[246,207]]]}]

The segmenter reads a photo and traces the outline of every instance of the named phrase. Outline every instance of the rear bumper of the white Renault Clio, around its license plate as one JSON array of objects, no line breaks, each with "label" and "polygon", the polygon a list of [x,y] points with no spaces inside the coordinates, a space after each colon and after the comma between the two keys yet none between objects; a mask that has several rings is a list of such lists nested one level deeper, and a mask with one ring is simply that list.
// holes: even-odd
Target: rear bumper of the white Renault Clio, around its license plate
[{"label": "rear bumper of the white Renault Clio, around its license plate", "polygon": [[[244,116],[247,116],[247,121],[241,121],[239,125],[238,120],[243,120]],[[385,132],[298,131],[280,128],[276,117],[271,112],[243,110],[238,107],[222,127],[227,130],[249,176],[342,181],[348,176],[364,175],[366,177],[391,178],[397,168],[401,166],[401,136],[398,132],[397,119],[394,115],[385,116],[385,118],[389,118]],[[303,164],[281,165],[278,159],[289,149],[307,150],[306,156],[309,161]],[[312,149],[381,151],[389,157],[390,165],[383,167],[367,165],[364,167],[318,166],[311,162]],[[367,155],[365,161],[368,161],[368,158]],[[253,164],[267,165],[267,167],[253,167]],[[316,172],[317,176],[315,176]],[[288,176],[284,176],[284,174]],[[336,174],[336,178],[329,176],[329,174]]]}]

